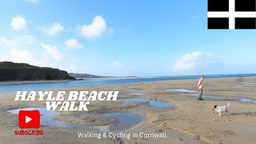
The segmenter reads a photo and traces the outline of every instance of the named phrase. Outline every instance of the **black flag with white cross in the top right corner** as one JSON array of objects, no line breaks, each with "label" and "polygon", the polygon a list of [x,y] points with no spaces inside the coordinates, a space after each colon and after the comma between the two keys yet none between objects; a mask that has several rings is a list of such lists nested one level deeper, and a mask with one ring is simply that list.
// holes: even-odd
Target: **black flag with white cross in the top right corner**
[{"label": "black flag with white cross in the top right corner", "polygon": [[208,29],[256,29],[256,0],[208,0]]}]

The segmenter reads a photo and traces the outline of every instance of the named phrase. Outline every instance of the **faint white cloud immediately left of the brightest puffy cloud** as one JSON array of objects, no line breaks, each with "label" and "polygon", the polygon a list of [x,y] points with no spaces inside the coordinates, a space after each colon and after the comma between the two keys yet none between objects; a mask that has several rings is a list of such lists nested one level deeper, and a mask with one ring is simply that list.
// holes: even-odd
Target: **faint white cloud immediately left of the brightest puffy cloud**
[{"label": "faint white cloud immediately left of the brightest puffy cloud", "polygon": [[64,26],[59,22],[54,22],[51,26],[39,26],[46,35],[54,36],[64,31]]}]

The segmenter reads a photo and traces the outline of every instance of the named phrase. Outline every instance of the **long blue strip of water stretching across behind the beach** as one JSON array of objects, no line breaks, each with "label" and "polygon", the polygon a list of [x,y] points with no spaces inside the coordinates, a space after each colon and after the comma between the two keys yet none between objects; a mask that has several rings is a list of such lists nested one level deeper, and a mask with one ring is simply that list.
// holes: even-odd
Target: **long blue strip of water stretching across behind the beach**
[{"label": "long blue strip of water stretching across behind the beach", "polygon": [[[212,74],[206,75],[206,78],[234,78],[234,77],[256,77],[256,74]],[[169,77],[144,77],[144,78],[123,78],[123,79],[101,79],[90,81],[71,81],[55,83],[34,83],[34,84],[14,84],[0,86],[0,94],[14,93],[16,91],[36,91],[36,90],[53,90],[65,89],[84,86],[103,86],[114,85],[119,83],[138,83],[138,82],[157,82],[167,80],[198,79],[199,75],[188,76],[169,76]]]}]

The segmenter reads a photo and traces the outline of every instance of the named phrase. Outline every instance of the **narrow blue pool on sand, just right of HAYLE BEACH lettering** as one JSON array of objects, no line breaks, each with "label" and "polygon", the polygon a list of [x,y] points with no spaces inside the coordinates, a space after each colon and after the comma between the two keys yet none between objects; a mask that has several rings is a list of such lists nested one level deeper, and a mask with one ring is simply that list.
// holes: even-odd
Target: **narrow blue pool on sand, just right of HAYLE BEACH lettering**
[{"label": "narrow blue pool on sand, just right of HAYLE BEACH lettering", "polygon": [[122,101],[127,102],[147,102],[150,106],[158,107],[158,108],[167,108],[173,106],[171,103],[168,102],[156,102],[156,101],[150,101],[148,99],[143,98],[126,98],[126,99],[120,99]]}]

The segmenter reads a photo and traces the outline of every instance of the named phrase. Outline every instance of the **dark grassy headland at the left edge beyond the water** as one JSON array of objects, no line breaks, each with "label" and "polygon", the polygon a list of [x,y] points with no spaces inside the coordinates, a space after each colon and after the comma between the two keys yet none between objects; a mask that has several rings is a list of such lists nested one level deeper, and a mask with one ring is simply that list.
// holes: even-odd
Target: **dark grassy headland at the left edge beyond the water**
[{"label": "dark grassy headland at the left edge beyond the water", "polygon": [[66,71],[26,63],[0,62],[0,81],[75,79]]}]

